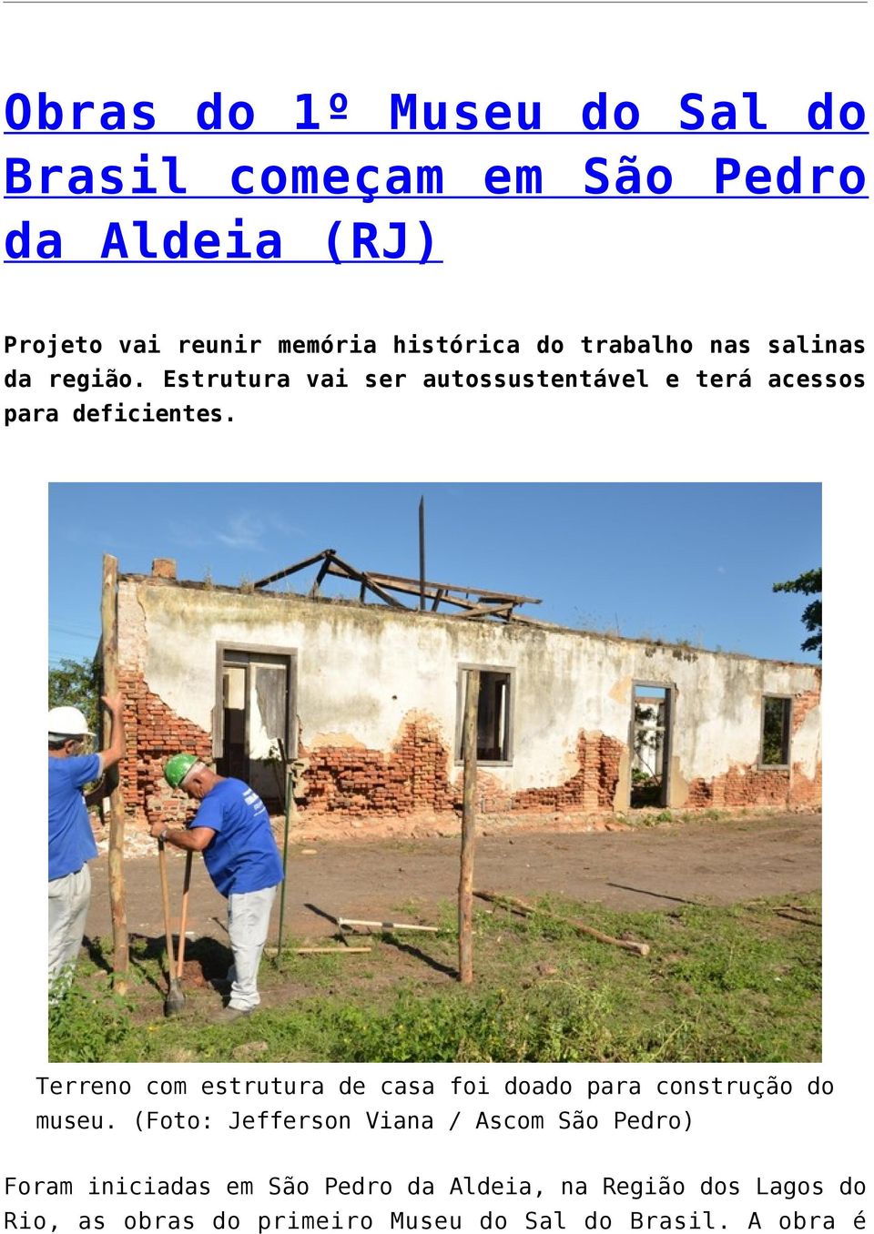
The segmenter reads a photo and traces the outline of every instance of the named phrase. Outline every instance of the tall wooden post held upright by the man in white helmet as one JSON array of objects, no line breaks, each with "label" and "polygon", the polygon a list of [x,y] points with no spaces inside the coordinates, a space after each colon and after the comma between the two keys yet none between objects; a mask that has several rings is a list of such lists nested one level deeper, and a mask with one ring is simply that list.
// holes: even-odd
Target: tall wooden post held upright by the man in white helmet
[{"label": "tall wooden post held upright by the man in white helmet", "polygon": [[[104,587],[100,603],[100,623],[102,632],[102,676],[104,694],[119,691],[119,626],[117,626],[117,587],[119,561],[104,554]],[[119,770],[109,772],[112,785],[110,793],[110,845],[109,845],[109,884],[110,908],[112,912],[112,986],[120,993],[127,993],[127,905],[125,896],[125,801],[119,786]]]}]

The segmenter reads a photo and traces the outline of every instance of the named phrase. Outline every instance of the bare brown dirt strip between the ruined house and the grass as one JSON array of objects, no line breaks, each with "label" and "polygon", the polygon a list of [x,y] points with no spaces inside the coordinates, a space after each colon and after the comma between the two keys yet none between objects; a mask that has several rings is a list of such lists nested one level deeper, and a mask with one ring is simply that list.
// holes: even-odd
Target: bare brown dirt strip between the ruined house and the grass
[{"label": "bare brown dirt strip between the ruined house and the grass", "polygon": [[[618,832],[502,830],[478,839],[474,885],[620,909],[791,896],[820,887],[820,814],[799,813]],[[169,847],[168,853],[178,913],[184,856]],[[157,856],[128,858],[125,870],[130,932],[162,937]],[[91,874],[88,934],[105,937],[111,933],[105,855],[91,864]],[[456,837],[296,840],[289,849],[286,934],[317,943],[336,933],[336,917],[427,923],[457,887]],[[189,938],[226,938],[225,917],[226,902],[195,856]]]}]

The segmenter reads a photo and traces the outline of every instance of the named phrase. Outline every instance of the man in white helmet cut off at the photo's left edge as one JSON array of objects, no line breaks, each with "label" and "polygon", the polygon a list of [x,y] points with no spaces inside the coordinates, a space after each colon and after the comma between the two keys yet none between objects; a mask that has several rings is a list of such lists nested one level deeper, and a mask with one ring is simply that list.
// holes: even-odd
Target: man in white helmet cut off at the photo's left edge
[{"label": "man in white helmet cut off at the photo's left edge", "polygon": [[[112,718],[110,744],[99,754],[83,754],[88,721],[78,707],[52,707],[48,713],[48,980],[69,981],[85,930],[91,875],[88,863],[98,847],[88,821],[83,786],[96,780],[125,753],[121,695],[102,700]],[[56,988],[57,993],[57,988]]]}]

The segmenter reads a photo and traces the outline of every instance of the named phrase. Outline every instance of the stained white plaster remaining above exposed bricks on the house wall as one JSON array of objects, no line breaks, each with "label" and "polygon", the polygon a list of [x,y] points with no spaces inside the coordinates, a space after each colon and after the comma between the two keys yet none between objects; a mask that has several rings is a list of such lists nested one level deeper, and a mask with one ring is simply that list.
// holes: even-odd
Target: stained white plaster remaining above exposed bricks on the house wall
[{"label": "stained white plaster remaining above exposed bricks on the house wall", "polygon": [[[573,775],[581,729],[627,743],[635,680],[675,687],[673,755],[686,780],[758,760],[763,692],[817,687],[807,665],[149,580],[121,581],[122,611],[122,664],[138,656],[149,689],[207,731],[218,642],[295,650],[307,745],[384,750],[417,712],[439,724],[452,749],[458,664],[511,668],[512,766],[490,769],[511,790]],[[815,708],[793,742],[793,761],[811,776],[818,731]]]}]

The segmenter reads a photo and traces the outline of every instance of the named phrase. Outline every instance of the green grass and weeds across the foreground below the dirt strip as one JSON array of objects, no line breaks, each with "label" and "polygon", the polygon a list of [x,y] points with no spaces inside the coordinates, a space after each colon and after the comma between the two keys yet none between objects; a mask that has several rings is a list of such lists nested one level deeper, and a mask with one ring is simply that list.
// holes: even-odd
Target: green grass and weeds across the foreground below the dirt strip
[{"label": "green grass and weeds across the foreground below the dirt strip", "polygon": [[[264,960],[263,1008],[216,1027],[209,986],[186,981],[185,1012],[163,1018],[159,940],[136,940],[126,1000],[110,992],[109,942],[81,959],[49,1012],[49,1058],[104,1061],[810,1061],[820,1058],[818,898],[621,913],[557,900],[647,959],[547,917],[475,917],[475,985],[453,980],[453,908],[438,934],[381,934],[365,955]],[[228,953],[200,939],[193,969],[223,972]]]}]

